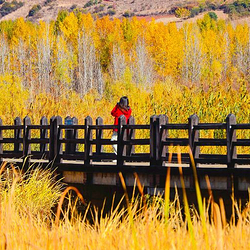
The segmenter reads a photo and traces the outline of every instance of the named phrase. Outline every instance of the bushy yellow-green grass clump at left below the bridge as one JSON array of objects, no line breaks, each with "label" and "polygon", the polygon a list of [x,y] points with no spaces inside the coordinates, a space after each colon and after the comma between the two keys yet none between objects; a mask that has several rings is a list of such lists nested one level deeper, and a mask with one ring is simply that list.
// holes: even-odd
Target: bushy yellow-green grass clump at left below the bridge
[{"label": "bushy yellow-green grass clump at left below the bridge", "polygon": [[7,169],[0,177],[1,201],[12,199],[16,211],[21,213],[49,216],[61,196],[63,184],[56,181],[55,174],[50,169],[36,167],[22,173],[12,166],[12,171]]}]

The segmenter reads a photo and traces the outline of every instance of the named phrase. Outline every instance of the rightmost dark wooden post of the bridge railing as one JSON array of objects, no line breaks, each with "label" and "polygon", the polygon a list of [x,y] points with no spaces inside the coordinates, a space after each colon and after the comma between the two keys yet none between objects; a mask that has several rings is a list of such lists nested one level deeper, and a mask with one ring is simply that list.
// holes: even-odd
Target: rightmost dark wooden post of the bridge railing
[{"label": "rightmost dark wooden post of the bridge railing", "polygon": [[233,147],[233,142],[237,141],[236,131],[232,129],[231,125],[236,124],[236,117],[229,114],[226,118],[227,123],[227,166],[234,168],[233,159],[237,159],[236,147]]}]

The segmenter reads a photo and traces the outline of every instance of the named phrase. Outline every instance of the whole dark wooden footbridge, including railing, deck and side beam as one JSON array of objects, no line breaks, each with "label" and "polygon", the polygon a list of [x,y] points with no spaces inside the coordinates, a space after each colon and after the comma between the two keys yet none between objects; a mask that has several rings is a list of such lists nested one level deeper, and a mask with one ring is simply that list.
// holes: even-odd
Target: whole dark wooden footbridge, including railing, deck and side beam
[{"label": "whole dark wooden footbridge, including railing, deck and side beam", "polygon": [[[118,129],[118,141],[104,138],[104,131]],[[136,131],[145,130],[148,138],[136,139]],[[171,130],[184,130],[186,138],[170,138]],[[225,138],[202,138],[202,130],[224,131]],[[145,187],[163,188],[167,167],[171,167],[171,186],[180,186],[177,154],[168,163],[169,147],[190,147],[197,167],[201,188],[206,188],[205,175],[210,177],[212,189],[245,191],[250,187],[250,153],[237,154],[239,147],[250,147],[250,138],[237,138],[237,131],[250,131],[250,124],[237,124],[230,114],[225,123],[199,123],[197,115],[185,124],[172,124],[165,115],[154,115],[147,125],[135,124],[124,116],[118,125],[104,125],[102,118],[93,124],[86,117],[84,124],[76,118],[52,117],[48,122],[42,117],[39,125],[32,125],[29,117],[23,121],[17,117],[14,125],[3,125],[0,120],[0,160],[16,164],[33,162],[48,165],[49,162],[68,183],[85,185],[119,185],[118,172],[125,176],[127,186],[134,185],[133,173],[137,172]],[[36,133],[34,133],[36,131]],[[11,135],[8,136],[7,135]],[[36,134],[33,137],[32,134]],[[247,133],[246,133],[247,134]],[[39,135],[39,136],[37,136]],[[249,135],[249,133],[248,133]],[[105,152],[105,145],[118,145],[118,154]],[[34,146],[36,145],[36,147]],[[138,145],[148,152],[136,152]],[[225,154],[203,154],[201,147],[226,148]],[[79,150],[81,148],[81,150]],[[249,151],[250,152],[250,151]],[[187,188],[194,188],[190,156],[182,154],[182,166]]]}]

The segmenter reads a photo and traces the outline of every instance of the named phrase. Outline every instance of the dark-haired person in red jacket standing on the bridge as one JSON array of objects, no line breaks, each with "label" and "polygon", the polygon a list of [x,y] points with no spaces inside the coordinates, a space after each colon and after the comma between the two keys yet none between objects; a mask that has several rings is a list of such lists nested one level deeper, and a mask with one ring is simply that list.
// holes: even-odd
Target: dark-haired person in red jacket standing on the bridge
[{"label": "dark-haired person in red jacket standing on the bridge", "polygon": [[[129,117],[131,116],[131,108],[129,107],[129,101],[127,96],[121,97],[120,101],[115,105],[115,107],[111,111],[111,115],[114,116],[114,125],[118,125],[118,118],[121,115],[126,117],[126,123],[128,122]],[[118,129],[114,129],[111,141],[117,141]],[[113,149],[115,154],[117,154],[117,144],[113,144]]]}]

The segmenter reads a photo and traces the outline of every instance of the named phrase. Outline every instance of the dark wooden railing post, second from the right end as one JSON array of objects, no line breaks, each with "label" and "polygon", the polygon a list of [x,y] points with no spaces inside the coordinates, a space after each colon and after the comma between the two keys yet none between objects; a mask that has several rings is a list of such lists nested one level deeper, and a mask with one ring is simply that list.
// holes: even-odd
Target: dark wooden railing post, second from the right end
[{"label": "dark wooden railing post, second from the right end", "polygon": [[195,145],[195,142],[199,141],[200,131],[195,130],[194,125],[198,125],[198,124],[199,124],[199,117],[196,114],[193,114],[188,118],[189,146],[190,146],[194,159],[199,158],[199,155],[200,155],[200,147]]}]

